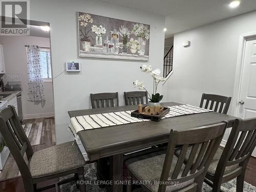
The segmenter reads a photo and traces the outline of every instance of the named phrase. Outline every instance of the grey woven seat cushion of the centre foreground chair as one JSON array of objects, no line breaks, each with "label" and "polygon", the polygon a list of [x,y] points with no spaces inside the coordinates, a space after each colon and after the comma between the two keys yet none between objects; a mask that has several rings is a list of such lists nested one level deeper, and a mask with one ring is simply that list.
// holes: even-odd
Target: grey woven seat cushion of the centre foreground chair
[{"label": "grey woven seat cushion of the centre foreground chair", "polygon": [[[132,174],[140,181],[150,181],[144,182],[144,185],[150,189],[151,191],[158,191],[159,182],[163,163],[165,158],[165,151],[155,152],[147,155],[138,156],[135,158],[131,158],[125,161],[127,168],[132,172]],[[170,168],[170,174],[168,180],[170,180],[170,176],[174,171],[178,158],[174,156],[172,167]],[[182,165],[181,173],[184,169],[185,165]],[[173,184],[166,187],[166,191],[174,191],[180,188],[183,188],[191,183],[194,183],[194,179],[189,181]]]}]

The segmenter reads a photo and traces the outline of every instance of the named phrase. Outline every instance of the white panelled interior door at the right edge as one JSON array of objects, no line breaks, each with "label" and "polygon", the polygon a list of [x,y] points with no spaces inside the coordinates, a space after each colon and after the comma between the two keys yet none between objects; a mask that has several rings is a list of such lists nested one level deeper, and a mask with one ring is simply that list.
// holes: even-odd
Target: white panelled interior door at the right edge
[{"label": "white panelled interior door at the right edge", "polygon": [[[246,39],[238,116],[256,117],[256,37]],[[252,156],[256,157],[254,149]]]}]

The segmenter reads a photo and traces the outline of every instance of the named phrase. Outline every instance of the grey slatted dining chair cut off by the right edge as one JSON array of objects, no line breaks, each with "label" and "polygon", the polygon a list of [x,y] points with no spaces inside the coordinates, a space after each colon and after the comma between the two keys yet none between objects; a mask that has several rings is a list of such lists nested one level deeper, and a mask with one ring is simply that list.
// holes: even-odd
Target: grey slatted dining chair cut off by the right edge
[{"label": "grey slatted dining chair cut off by the right edge", "polygon": [[227,143],[210,163],[205,182],[212,191],[220,191],[222,183],[237,178],[237,191],[243,191],[249,158],[256,146],[256,118],[234,121]]}]

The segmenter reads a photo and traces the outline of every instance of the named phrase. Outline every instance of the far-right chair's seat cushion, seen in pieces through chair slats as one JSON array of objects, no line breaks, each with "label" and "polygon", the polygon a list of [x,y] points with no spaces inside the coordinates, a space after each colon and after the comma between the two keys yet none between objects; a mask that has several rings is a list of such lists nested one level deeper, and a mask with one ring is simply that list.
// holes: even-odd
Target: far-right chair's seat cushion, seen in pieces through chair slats
[{"label": "far-right chair's seat cushion, seen in pieces through chair slats", "polygon": [[[200,147],[201,147],[201,145],[199,146],[199,148],[200,148]],[[191,150],[192,150],[192,147],[188,147],[185,160],[188,160],[188,157],[189,157],[189,154],[190,154]],[[197,155],[199,154],[199,151],[200,151],[200,150],[198,150]],[[179,155],[179,153],[180,153],[180,150],[178,150],[178,151],[176,152],[177,155]],[[215,154],[215,156],[214,156],[214,158],[211,160],[211,163],[210,163],[209,168],[208,168],[208,170],[207,170],[207,174],[210,174],[210,175],[212,175],[212,176],[215,174],[215,171],[216,171],[216,168],[217,168],[217,165],[218,165],[218,163],[219,163],[219,160],[220,160],[220,158],[221,158],[222,153],[223,153],[223,150],[222,150],[222,148],[219,147],[218,150],[217,150],[217,152],[216,152],[216,154]],[[196,158],[197,158],[197,155],[196,155],[196,157],[195,157],[195,159],[194,159],[194,162],[195,162],[195,160],[196,160]],[[226,173],[228,173],[228,172],[231,172],[232,170],[234,170],[234,169],[236,169],[236,168],[238,168],[238,167],[239,167],[239,164],[227,166],[227,167],[225,168],[224,174],[226,174]]]}]

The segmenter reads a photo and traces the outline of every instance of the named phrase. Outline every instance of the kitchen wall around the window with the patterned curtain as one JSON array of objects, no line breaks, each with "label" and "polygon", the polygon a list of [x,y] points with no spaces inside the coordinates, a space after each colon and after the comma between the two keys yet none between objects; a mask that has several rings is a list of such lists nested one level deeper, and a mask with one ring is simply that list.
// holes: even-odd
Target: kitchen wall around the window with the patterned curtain
[{"label": "kitchen wall around the window with the patterned curtain", "polygon": [[31,118],[31,115],[52,115],[54,114],[53,104],[53,86],[52,83],[45,83],[46,102],[27,101],[28,93],[28,72],[25,45],[37,45],[41,47],[50,47],[50,39],[33,36],[0,36],[0,44],[4,46],[4,57],[6,73],[20,74],[22,81],[22,106],[25,118]]}]

